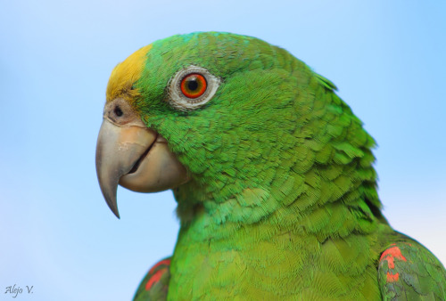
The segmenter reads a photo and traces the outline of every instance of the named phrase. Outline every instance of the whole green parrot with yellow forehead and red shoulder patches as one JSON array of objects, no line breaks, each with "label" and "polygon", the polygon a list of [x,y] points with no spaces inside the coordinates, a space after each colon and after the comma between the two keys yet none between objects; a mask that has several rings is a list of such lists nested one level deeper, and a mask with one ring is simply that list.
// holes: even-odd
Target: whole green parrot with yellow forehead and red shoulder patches
[{"label": "whole green parrot with yellow forehead and red shoulder patches", "polygon": [[135,300],[444,300],[446,272],[395,232],[374,139],[336,87],[254,37],[199,32],[136,51],[107,85],[96,170],[171,189],[178,241]]}]

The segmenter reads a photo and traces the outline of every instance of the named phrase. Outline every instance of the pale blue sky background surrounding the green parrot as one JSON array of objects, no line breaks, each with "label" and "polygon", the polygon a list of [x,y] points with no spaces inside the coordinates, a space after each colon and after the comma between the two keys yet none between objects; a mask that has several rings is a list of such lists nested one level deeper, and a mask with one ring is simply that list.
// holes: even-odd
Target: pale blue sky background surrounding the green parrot
[{"label": "pale blue sky background surrounding the green parrot", "polygon": [[379,144],[385,216],[446,263],[445,12],[443,1],[4,1],[0,299],[16,284],[23,300],[128,300],[171,254],[171,192],[120,188],[116,219],[95,142],[111,69],[192,31],[260,37],[335,82]]}]

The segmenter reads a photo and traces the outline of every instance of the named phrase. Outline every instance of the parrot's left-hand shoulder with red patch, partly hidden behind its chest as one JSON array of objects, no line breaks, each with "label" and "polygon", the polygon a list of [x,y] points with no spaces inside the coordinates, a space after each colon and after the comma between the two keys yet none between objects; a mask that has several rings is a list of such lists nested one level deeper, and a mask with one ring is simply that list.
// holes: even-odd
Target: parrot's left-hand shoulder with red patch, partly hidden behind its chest
[{"label": "parrot's left-hand shoulder with red patch, partly hidden behind its chest", "polygon": [[134,301],[166,300],[170,280],[170,257],[154,264],[136,289]]}]

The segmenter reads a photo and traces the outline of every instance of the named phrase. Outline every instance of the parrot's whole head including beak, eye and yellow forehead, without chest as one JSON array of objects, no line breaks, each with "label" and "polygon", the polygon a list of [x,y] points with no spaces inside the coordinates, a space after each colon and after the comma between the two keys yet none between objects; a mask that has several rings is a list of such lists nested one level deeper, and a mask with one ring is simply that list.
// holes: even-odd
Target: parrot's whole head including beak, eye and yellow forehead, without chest
[{"label": "parrot's whole head including beak, eye and yellow forehead, without chest", "polygon": [[254,37],[201,32],[147,45],[107,85],[96,147],[104,199],[119,217],[118,184],[172,189],[180,217],[238,199],[260,208],[252,221],[296,199],[303,208],[351,191],[380,207],[374,141],[334,90]]}]

